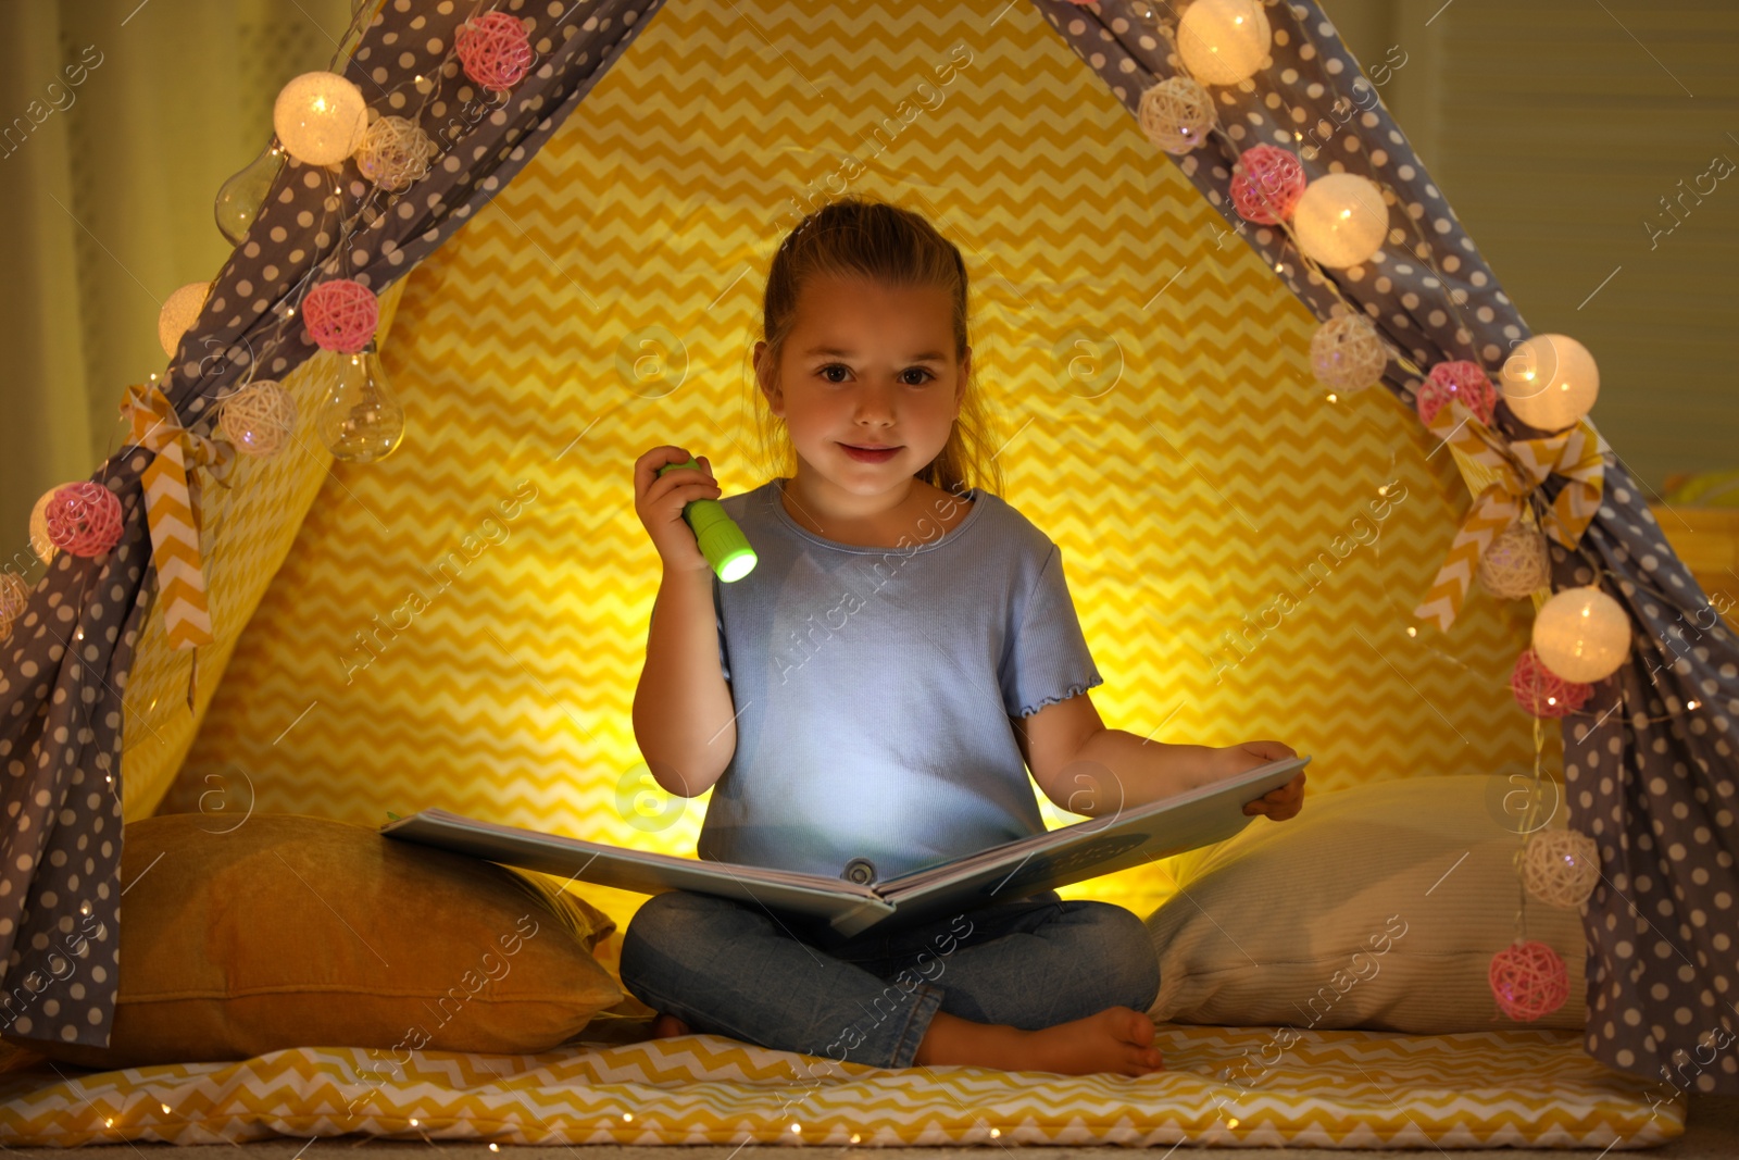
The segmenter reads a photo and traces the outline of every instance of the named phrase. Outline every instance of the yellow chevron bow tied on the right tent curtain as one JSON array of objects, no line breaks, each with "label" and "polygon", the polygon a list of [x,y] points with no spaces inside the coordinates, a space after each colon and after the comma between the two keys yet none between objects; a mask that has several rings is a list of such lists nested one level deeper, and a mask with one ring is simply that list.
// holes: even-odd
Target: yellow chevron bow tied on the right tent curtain
[{"label": "yellow chevron bow tied on the right tent curtain", "polygon": [[1544,530],[1565,548],[1581,543],[1582,532],[1600,510],[1600,494],[1605,487],[1602,456],[1610,447],[1588,419],[1544,438],[1506,442],[1475,419],[1461,400],[1440,407],[1428,426],[1452,450],[1497,477],[1468,508],[1466,520],[1449,546],[1449,558],[1438,569],[1424,600],[1414,609],[1417,619],[1431,621],[1438,630],[1449,631],[1468,597],[1468,584],[1473,583],[1485,548],[1522,518],[1527,494],[1553,471],[1569,483],[1544,513]]}]

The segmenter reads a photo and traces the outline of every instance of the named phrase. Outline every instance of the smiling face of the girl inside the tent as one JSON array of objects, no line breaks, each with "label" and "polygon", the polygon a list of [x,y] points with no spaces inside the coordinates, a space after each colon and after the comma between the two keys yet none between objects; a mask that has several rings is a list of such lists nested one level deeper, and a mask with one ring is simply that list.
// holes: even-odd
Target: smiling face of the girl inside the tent
[{"label": "smiling face of the girl inside the tent", "polygon": [[[791,433],[800,473],[823,499],[850,506],[838,492],[897,503],[948,445],[972,350],[955,360],[944,290],[828,277],[810,280],[798,297],[777,386],[769,363],[767,343],[756,343],[755,369],[770,410]],[[852,457],[847,445],[897,450],[875,463]]]}]

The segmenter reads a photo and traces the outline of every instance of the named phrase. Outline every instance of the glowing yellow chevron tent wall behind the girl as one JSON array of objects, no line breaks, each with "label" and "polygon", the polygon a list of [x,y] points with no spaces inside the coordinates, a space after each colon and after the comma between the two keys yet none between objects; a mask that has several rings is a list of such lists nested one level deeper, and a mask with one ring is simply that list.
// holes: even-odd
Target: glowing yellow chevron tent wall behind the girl
[{"label": "glowing yellow chevron tent wall behind the girl", "polygon": [[[283,567],[172,791],[186,708],[151,708],[163,661],[141,659],[127,743],[158,762],[129,750],[129,817],[438,805],[692,856],[706,798],[642,805],[659,562],[631,466],[676,443],[727,494],[769,478],[763,271],[857,169],[965,252],[1005,499],[1063,546],[1106,723],[1278,737],[1315,755],[1311,791],[1534,767],[1506,683],[1527,603],[1482,593],[1452,635],[1407,631],[1468,504],[1452,454],[1384,391],[1329,402],[1308,311],[1035,9],[678,0],[409,275],[384,351],[403,447],[256,468],[224,501],[219,640],[242,630],[224,570]],[[643,901],[583,889],[623,927]],[[1169,890],[1151,866],[1063,894],[1144,915]]]}]

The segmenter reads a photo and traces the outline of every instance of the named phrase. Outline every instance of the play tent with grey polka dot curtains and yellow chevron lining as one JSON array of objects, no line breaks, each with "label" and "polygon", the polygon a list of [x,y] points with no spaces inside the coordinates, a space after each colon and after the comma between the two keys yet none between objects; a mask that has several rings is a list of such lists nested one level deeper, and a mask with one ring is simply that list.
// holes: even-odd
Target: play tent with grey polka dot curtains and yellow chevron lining
[{"label": "play tent with grey polka dot curtains and yellow chevron lining", "polygon": [[[1577,550],[1551,544],[1551,588],[1598,581],[1633,643],[1562,734],[1509,689],[1544,591],[1534,607],[1499,602],[1466,565],[1450,574],[1464,593],[1452,624],[1416,616],[1469,497],[1504,471],[1464,428],[1421,423],[1419,377],[1395,358],[1383,391],[1315,384],[1313,336],[1344,299],[1398,358],[1475,360],[1496,376],[1529,332],[1315,5],[1264,9],[1271,59],[1250,82],[1210,85],[1221,132],[1174,157],[1141,118],[1143,94],[1179,73],[1163,5],[504,2],[536,59],[499,108],[475,101],[450,52],[475,7],[363,5],[344,75],[379,113],[445,134],[442,155],[390,198],[353,162],[290,160],[162,381],[169,426],[203,437],[256,357],[259,376],[315,410],[334,355],[294,306],[348,277],[383,296],[403,447],[350,464],[304,428],[252,459],[151,430],[92,475],[120,497],[120,541],[94,558],[56,555],[16,617],[0,673],[17,819],[0,946],[9,990],[31,974],[56,983],[14,1040],[106,1042],[122,821],[259,810],[372,824],[442,805],[692,852],[701,802],[654,819],[636,805],[628,708],[657,560],[630,466],[673,442],[708,454],[727,492],[779,471],[753,437],[760,278],[790,226],[847,188],[925,212],[967,256],[979,377],[1009,437],[1007,497],[1063,546],[1109,725],[1203,744],[1285,739],[1315,757],[1311,793],[1562,763],[1569,826],[1593,837],[1602,870],[1582,918],[1581,1047],[1654,1077],[1699,1031],[1732,1033],[1739,649],[1699,617],[1708,597],[1591,423],[1576,428],[1581,457],[1537,483],[1544,504],[1588,518]],[[449,87],[424,101],[416,78],[436,71]],[[1393,195],[1381,259],[1313,275],[1283,231],[1231,207],[1235,155],[1287,137],[1311,139],[1311,177],[1362,172]],[[1508,409],[1494,430],[1516,443],[1551,435]],[[148,529],[141,475],[169,449],[207,477],[193,558],[203,600],[184,544],[153,550]],[[221,480],[193,466],[202,454]],[[209,640],[177,647],[200,640],[202,603]],[[640,901],[586,894],[623,927]],[[1125,871],[1069,896],[1148,913],[1169,887],[1163,871]],[[61,991],[50,957],[75,929],[108,970]],[[1236,1054],[1235,1028],[1189,1035],[1207,1056]],[[1565,1066],[1499,1040],[1462,1063],[1506,1047],[1504,1068]],[[690,1078],[753,1082],[779,1054],[706,1056],[718,1049],[685,1057]],[[635,1075],[675,1066],[671,1050],[647,1045]],[[1386,1049],[1323,1042],[1318,1063],[1341,1050]],[[593,1066],[563,1075],[623,1078]],[[1104,1094],[1089,1080],[1063,1089],[1059,1115]],[[1716,1064],[1699,1090],[1739,1090],[1739,1077]],[[1424,1137],[1452,1141],[1466,1108],[1438,1111]],[[703,1118],[654,1137],[689,1139]],[[1071,1136],[1066,1120],[1031,1139],[1130,1139]],[[1647,1143],[1642,1122],[1603,1123]],[[736,1139],[723,1123],[708,1137]],[[596,1130],[563,1137],[642,1139]],[[923,1130],[890,1139],[929,1143]],[[1595,1139],[1588,1120],[1565,1132]],[[1285,1137],[1311,1139],[1297,1123]]]}]

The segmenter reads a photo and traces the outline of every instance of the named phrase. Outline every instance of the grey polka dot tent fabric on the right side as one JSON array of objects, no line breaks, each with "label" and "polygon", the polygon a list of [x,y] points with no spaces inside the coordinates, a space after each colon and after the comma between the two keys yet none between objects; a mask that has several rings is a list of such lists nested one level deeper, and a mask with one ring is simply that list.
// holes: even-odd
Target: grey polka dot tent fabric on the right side
[{"label": "grey polka dot tent fabric on the right side", "polygon": [[[1153,28],[1153,17],[1172,19],[1169,5],[1035,2],[1132,117],[1144,89],[1179,73]],[[1322,280],[1332,277],[1419,365],[1461,358],[1496,377],[1504,355],[1530,334],[1520,311],[1334,24],[1308,2],[1269,2],[1266,12],[1271,57],[1256,78],[1210,89],[1235,148],[1210,139],[1176,158],[1179,167],[1318,318],[1339,306]],[[1311,179],[1355,172],[1377,181],[1389,203],[1384,250],[1369,264],[1318,275],[1299,263],[1285,233],[1238,217],[1231,165],[1256,144],[1297,151]],[[1419,384],[1389,363],[1384,386],[1409,407]],[[1497,421],[1511,440],[1544,435],[1506,405]],[[1548,503],[1563,483],[1548,477]],[[1600,845],[1600,882],[1584,908],[1586,1049],[1609,1066],[1668,1077],[1687,1090],[1739,1094],[1739,645],[1614,452],[1605,454],[1598,517],[1577,551],[1551,546],[1551,565],[1555,590],[1598,581],[1633,621],[1626,663],[1562,722],[1569,823]]]}]

